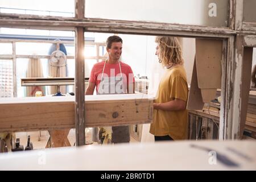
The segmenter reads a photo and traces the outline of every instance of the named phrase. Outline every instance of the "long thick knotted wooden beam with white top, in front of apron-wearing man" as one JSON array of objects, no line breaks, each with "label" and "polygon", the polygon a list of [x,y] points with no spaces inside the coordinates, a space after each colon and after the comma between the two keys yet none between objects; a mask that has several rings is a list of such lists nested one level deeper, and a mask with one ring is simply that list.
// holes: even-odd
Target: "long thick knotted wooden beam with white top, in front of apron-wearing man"
[{"label": "long thick knotted wooden beam with white top, in front of apron-wearing man", "polygon": [[[145,94],[85,97],[85,127],[151,123],[153,100]],[[75,97],[0,99],[0,132],[75,127]]]}]

